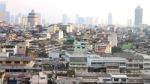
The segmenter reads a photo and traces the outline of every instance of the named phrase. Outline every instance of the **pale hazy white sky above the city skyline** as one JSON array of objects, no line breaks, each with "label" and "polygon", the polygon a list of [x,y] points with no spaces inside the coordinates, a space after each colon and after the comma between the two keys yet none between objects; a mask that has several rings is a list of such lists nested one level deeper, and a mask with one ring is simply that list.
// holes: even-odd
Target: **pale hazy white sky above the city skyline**
[{"label": "pale hazy white sky above the city skyline", "polygon": [[12,14],[25,15],[34,9],[41,13],[46,21],[61,21],[61,15],[73,18],[76,14],[87,17],[98,17],[99,23],[106,23],[108,13],[113,16],[113,23],[127,24],[128,19],[134,22],[134,9],[137,5],[143,8],[143,23],[150,24],[150,0],[0,0],[7,4]]}]

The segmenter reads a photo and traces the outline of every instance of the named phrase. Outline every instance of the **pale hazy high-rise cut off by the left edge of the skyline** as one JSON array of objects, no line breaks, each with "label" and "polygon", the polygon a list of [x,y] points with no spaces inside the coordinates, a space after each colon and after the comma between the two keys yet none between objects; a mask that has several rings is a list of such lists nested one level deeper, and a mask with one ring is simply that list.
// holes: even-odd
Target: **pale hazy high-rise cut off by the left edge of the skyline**
[{"label": "pale hazy high-rise cut off by the left edge of the skyline", "polygon": [[5,21],[5,13],[6,13],[6,4],[4,2],[0,2],[0,22]]}]

